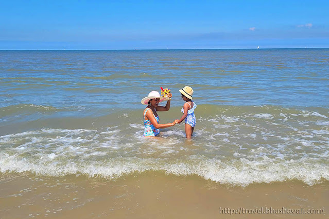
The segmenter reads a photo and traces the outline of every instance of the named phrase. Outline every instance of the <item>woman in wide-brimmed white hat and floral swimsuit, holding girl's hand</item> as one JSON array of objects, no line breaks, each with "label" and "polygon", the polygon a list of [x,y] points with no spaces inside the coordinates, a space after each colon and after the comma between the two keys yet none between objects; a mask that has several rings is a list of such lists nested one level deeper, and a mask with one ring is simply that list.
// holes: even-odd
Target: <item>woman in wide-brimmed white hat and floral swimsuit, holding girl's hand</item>
[{"label": "woman in wide-brimmed white hat and floral swimsuit, holding girl's hand", "polygon": [[[160,129],[174,126],[178,119],[167,124],[159,124],[159,116],[157,111],[168,111],[170,109],[170,99],[172,95],[169,93],[168,97],[161,97],[159,92],[152,91],[147,97],[143,98],[142,104],[147,105],[144,110],[144,137],[153,137],[160,134]],[[167,100],[166,106],[159,106],[159,103]]]}]

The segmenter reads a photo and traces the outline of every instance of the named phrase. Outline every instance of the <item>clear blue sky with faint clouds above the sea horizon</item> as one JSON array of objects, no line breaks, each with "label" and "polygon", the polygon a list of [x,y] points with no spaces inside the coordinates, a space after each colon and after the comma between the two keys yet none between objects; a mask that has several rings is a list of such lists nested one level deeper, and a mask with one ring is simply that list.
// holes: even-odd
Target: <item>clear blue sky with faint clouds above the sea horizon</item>
[{"label": "clear blue sky with faint clouds above the sea horizon", "polygon": [[329,47],[329,1],[5,1],[0,49]]}]

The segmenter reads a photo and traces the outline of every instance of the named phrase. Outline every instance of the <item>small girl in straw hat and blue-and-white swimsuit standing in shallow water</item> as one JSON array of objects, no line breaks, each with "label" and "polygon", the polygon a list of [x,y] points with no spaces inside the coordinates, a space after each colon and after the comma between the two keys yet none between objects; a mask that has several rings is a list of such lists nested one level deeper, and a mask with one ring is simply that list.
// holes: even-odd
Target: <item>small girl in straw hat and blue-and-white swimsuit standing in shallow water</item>
[{"label": "small girl in straw hat and blue-and-white swimsuit standing in shallow water", "polygon": [[191,138],[194,131],[194,126],[197,122],[194,115],[194,110],[197,107],[197,104],[195,104],[192,99],[192,87],[185,86],[183,89],[180,89],[179,92],[182,94],[182,99],[186,101],[186,103],[184,103],[184,106],[181,110],[181,112],[184,114],[178,123],[181,123],[185,119],[186,138]]}]

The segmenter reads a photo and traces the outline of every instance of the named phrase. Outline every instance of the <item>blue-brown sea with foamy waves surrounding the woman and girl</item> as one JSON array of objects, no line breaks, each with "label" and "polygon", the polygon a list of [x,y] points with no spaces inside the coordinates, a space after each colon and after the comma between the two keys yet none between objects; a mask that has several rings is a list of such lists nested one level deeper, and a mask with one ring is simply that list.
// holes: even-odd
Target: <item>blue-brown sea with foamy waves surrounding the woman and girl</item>
[{"label": "blue-brown sea with foamy waves surrounding the woman and girl", "polygon": [[[197,174],[223,184],[329,179],[329,49],[0,51],[0,171]],[[197,126],[142,137],[140,101],[194,89]]]}]

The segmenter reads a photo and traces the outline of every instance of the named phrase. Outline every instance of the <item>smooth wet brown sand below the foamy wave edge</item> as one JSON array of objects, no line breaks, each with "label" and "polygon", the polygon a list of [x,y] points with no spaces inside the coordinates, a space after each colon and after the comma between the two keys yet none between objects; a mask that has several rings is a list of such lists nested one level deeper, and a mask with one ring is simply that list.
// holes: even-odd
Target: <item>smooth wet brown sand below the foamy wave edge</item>
[{"label": "smooth wet brown sand below the foamy wave edge", "polygon": [[[116,181],[7,173],[0,175],[0,206],[1,218],[327,218],[329,182],[308,186],[289,181],[241,188],[199,176],[152,171]],[[270,208],[270,214],[248,213]],[[324,209],[324,214],[274,213],[283,208],[286,212]]]}]

